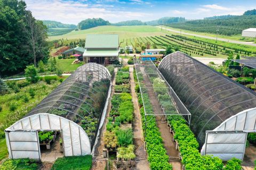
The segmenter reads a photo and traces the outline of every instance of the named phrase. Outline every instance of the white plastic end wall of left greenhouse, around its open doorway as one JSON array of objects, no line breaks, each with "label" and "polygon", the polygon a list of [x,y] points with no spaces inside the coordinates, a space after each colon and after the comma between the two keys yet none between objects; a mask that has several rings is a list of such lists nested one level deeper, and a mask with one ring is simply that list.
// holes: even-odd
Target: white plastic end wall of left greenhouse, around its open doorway
[{"label": "white plastic end wall of left greenhouse, around its open doorway", "polygon": [[62,131],[65,156],[91,154],[89,137],[81,126],[57,115],[39,113],[22,118],[5,130],[9,157],[38,159],[37,131],[49,130]]}]

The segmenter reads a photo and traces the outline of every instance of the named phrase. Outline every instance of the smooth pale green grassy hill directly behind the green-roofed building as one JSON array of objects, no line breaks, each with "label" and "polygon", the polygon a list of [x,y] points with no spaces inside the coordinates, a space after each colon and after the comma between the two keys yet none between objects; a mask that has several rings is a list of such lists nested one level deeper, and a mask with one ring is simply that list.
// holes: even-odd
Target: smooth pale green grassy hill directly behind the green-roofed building
[{"label": "smooth pale green grassy hill directly behind the green-roofed building", "polygon": [[160,28],[149,26],[149,25],[139,25],[139,26],[100,26],[95,28],[90,28],[86,30],[71,31],[65,35],[61,36],[51,36],[49,40],[54,39],[85,39],[86,34],[100,34],[100,33],[111,33],[118,34],[119,39],[133,38],[133,37],[146,37],[146,36],[158,36],[164,35],[164,32]]}]

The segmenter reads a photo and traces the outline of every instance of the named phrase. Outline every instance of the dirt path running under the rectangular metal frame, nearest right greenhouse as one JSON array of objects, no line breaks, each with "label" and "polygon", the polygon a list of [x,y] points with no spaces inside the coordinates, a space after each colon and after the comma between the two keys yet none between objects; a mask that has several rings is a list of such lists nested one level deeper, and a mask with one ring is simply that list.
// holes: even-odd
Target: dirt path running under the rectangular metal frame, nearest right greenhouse
[{"label": "dirt path running under the rectangular metal frame, nearest right greenhouse", "polygon": [[[141,70],[141,71],[142,71],[142,73],[144,72],[144,70]],[[143,74],[143,79],[146,82],[146,87],[150,88],[147,90],[148,90],[148,96],[150,99],[150,103],[153,106],[154,114],[156,114],[156,115],[162,114],[161,107],[157,101],[157,98],[154,93],[154,89],[152,89],[153,86],[150,83],[148,76],[146,74]],[[164,147],[167,151],[167,155],[170,158],[169,162],[172,164],[173,170],[181,170],[182,164],[179,160],[179,152],[175,148],[175,146],[176,146],[175,142],[172,141],[173,135],[172,135],[172,133],[170,133],[169,127],[167,126],[167,122],[166,122],[164,116],[160,116],[160,115],[156,116],[156,122],[157,122],[158,129],[161,132],[161,137],[163,139]]]}]

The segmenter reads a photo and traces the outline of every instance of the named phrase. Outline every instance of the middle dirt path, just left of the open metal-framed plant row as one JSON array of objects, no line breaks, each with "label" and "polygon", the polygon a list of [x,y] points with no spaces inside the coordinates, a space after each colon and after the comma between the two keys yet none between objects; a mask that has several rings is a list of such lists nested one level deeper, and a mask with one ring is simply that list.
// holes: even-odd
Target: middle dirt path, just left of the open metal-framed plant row
[{"label": "middle dirt path, just left of the open metal-framed plant row", "polygon": [[141,117],[140,110],[138,105],[138,99],[135,92],[135,82],[133,78],[133,65],[130,65],[130,84],[131,84],[131,95],[134,106],[134,122],[133,122],[133,134],[134,134],[134,145],[135,145],[135,154],[137,165],[136,169],[149,169],[149,163],[147,160],[147,152],[145,150],[145,144],[143,141],[143,133],[142,133],[142,125],[141,125]]}]

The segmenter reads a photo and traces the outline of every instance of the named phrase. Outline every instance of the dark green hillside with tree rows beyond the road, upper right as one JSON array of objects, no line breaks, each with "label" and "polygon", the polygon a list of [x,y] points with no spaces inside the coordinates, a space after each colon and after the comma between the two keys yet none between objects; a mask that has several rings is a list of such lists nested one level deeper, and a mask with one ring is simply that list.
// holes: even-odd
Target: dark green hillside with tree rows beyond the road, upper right
[{"label": "dark green hillside with tree rows beyond the road, upper right", "polygon": [[[172,28],[185,29],[197,32],[218,33],[220,35],[241,35],[242,30],[256,27],[255,11],[246,11],[241,16],[215,16],[203,20],[186,21],[184,23],[168,24]],[[215,19],[214,19],[215,18]]]}]

